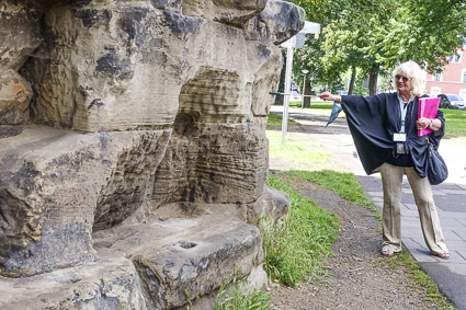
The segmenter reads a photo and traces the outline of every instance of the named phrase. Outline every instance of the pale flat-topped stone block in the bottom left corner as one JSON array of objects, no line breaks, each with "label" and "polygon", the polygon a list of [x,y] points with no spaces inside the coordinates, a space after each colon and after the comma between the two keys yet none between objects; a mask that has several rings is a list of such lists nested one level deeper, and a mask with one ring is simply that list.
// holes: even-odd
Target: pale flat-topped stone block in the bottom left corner
[{"label": "pale flat-topped stone block in the bottom left corner", "polygon": [[134,264],[105,257],[29,278],[0,276],[0,309],[147,309]]}]

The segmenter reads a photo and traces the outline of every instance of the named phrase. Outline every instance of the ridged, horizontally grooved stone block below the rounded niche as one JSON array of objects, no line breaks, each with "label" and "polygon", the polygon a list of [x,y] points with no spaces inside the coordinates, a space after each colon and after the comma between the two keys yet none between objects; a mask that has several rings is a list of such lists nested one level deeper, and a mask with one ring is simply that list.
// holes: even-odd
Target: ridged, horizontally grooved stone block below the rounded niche
[{"label": "ridged, horizontally grooved stone block below the rounded niche", "polygon": [[250,123],[198,124],[190,114],[184,119],[177,123],[156,174],[154,206],[255,202],[266,177],[264,131]]}]

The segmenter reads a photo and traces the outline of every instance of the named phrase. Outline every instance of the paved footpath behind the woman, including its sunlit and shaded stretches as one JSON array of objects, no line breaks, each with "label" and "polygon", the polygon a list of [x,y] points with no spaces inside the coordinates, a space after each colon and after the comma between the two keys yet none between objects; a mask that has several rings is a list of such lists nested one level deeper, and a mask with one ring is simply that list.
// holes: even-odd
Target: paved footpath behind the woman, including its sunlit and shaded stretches
[{"label": "paved footpath behind the woman, including its sunlit and shaded stretches", "polygon": [[[272,112],[281,113],[281,106],[272,106]],[[328,116],[310,114],[300,108],[289,110],[289,117],[300,124],[321,128]],[[327,130],[310,134],[323,147],[336,154],[337,160],[357,175],[367,197],[382,213],[383,192],[379,174],[367,176],[357,159],[351,135],[341,133],[346,127],[344,118],[337,118]],[[339,133],[332,134],[334,131]],[[419,262],[420,267],[437,284],[440,290],[458,310],[466,310],[466,146],[451,145],[442,140],[440,153],[448,167],[446,182],[432,186],[435,205],[451,259],[445,261],[429,254],[421,232],[420,219],[411,188],[405,176],[402,184],[401,239],[408,251]]]}]

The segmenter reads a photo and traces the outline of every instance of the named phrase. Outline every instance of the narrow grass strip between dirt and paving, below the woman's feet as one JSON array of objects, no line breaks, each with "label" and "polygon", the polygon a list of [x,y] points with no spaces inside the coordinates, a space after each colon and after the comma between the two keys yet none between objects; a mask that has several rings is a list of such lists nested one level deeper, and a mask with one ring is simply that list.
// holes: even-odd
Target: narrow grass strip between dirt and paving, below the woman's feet
[{"label": "narrow grass strip between dirt and paving, below the woman's feet", "polygon": [[427,275],[418,265],[418,262],[406,250],[389,259],[393,268],[398,266],[406,267],[406,274],[409,278],[408,285],[418,291],[421,291],[423,299],[434,303],[436,309],[455,309],[450,301],[440,292],[435,282]]}]

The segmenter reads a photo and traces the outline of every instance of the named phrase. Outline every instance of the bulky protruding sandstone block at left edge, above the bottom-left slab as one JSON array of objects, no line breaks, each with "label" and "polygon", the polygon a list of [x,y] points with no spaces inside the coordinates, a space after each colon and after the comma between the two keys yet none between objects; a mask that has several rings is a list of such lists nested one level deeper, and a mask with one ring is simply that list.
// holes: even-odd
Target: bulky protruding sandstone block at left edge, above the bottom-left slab
[{"label": "bulky protruding sandstone block at left edge, above the bottom-left slab", "polygon": [[92,231],[144,205],[169,136],[31,127],[0,139],[0,274],[94,260]]}]

